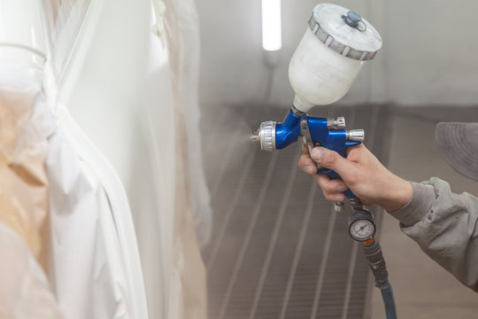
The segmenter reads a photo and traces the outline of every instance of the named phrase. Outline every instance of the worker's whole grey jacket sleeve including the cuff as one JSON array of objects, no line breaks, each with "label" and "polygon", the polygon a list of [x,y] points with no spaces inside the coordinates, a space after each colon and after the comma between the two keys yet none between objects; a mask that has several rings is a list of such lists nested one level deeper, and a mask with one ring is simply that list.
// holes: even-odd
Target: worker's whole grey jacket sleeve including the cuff
[{"label": "worker's whole grey jacket sleeve including the cuff", "polygon": [[389,214],[431,259],[478,292],[478,198],[452,193],[436,177],[412,187],[411,201]]}]

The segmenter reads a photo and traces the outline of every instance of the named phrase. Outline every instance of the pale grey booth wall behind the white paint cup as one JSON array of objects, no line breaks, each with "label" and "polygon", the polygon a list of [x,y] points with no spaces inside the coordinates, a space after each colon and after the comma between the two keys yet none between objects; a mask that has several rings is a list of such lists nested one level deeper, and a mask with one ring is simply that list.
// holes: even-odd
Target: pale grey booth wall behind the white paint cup
[{"label": "pale grey booth wall behind the white paint cup", "polygon": [[[327,2],[327,1],[326,1]],[[331,1],[358,12],[380,32],[382,51],[341,104],[476,105],[475,1]],[[281,60],[269,102],[290,105],[289,59],[320,0],[282,0]],[[201,20],[203,105],[262,102],[271,74],[263,63],[261,2],[197,0]]]}]

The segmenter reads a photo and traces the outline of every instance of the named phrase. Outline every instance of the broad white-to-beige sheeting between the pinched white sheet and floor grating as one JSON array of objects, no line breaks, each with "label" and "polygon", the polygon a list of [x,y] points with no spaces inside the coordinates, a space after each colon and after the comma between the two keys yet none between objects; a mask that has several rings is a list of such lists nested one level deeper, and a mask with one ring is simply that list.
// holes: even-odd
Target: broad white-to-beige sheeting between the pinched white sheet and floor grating
[{"label": "broad white-to-beige sheeting between the pinched white sheet and floor grating", "polygon": [[[152,11],[150,1],[98,0],[91,2],[92,9],[70,71],[58,83],[59,102],[125,187],[150,318],[205,318],[205,271],[191,216],[189,136],[178,82],[181,64],[172,62],[197,52],[181,47],[173,5],[166,4],[168,41],[154,32],[163,17]],[[169,36],[172,30],[176,33]]]}]

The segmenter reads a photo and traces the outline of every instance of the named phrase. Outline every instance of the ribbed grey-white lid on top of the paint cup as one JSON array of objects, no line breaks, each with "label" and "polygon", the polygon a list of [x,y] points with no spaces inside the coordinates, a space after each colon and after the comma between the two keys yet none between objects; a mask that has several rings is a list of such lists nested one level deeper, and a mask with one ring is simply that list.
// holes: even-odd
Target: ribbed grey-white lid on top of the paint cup
[{"label": "ribbed grey-white lid on top of the paint cup", "polygon": [[382,37],[374,26],[340,5],[317,4],[309,27],[320,42],[348,58],[370,60],[382,47]]}]

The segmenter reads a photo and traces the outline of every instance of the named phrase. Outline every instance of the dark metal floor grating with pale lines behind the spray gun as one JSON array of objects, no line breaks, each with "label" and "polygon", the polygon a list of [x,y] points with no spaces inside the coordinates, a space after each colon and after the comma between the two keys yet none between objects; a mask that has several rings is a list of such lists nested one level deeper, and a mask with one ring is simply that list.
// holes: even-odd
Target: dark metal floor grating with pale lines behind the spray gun
[{"label": "dark metal floor grating with pale lines behind the spray gun", "polygon": [[[204,249],[209,317],[364,318],[371,288],[348,213],[336,214],[309,175],[297,167],[301,143],[262,152],[246,136],[260,121],[281,121],[287,109],[204,110],[206,175],[214,227]],[[366,145],[387,154],[388,110],[378,106],[321,108],[365,128]],[[380,218],[374,212],[375,217]]]}]

